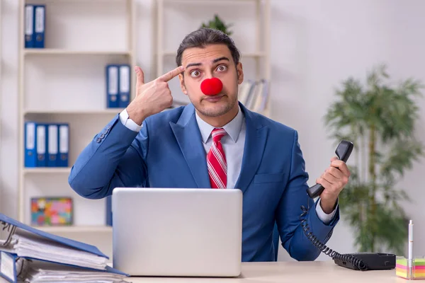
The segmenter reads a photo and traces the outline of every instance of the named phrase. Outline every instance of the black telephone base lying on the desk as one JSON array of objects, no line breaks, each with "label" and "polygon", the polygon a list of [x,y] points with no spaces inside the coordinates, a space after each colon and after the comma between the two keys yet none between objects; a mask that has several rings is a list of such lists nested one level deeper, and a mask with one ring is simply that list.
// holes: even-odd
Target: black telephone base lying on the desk
[{"label": "black telephone base lying on the desk", "polygon": [[[391,253],[348,253],[347,255],[352,255],[354,258],[362,260],[367,266],[367,270],[392,270],[395,268],[396,255]],[[353,265],[351,262],[334,259],[336,265],[347,267],[352,270],[359,270],[356,265]]]}]

